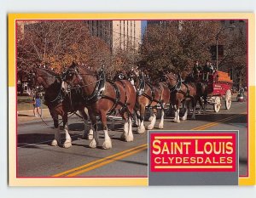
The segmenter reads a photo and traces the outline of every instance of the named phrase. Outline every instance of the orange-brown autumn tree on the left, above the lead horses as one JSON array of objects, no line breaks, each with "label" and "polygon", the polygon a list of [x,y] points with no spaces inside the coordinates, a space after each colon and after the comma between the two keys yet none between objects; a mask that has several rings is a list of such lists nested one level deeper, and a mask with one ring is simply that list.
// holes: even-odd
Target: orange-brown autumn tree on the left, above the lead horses
[{"label": "orange-brown autumn tree on the left, above the lead horses", "polygon": [[60,71],[73,60],[94,68],[111,63],[108,45],[90,36],[84,21],[37,21],[25,25],[24,35],[17,31],[18,66],[46,64]]}]

